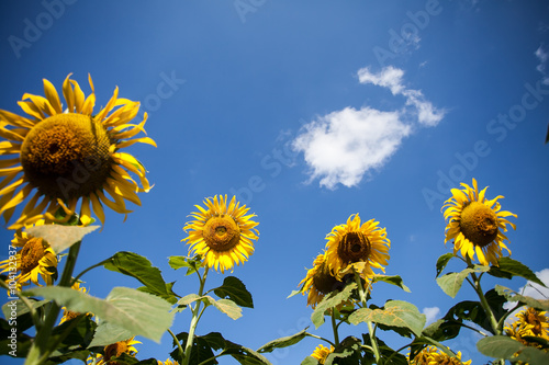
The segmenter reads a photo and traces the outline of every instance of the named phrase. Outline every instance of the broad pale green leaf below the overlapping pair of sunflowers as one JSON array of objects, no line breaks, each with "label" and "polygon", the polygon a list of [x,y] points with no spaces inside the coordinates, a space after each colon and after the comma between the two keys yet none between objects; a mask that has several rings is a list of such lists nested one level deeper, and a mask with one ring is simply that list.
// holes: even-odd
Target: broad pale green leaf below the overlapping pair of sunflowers
[{"label": "broad pale green leaf below the overlapping pair of sunflowers", "polygon": [[416,306],[402,300],[389,300],[383,309],[360,308],[349,316],[349,322],[376,322],[385,326],[403,327],[410,329],[416,337],[422,335],[422,330],[427,318],[421,313]]}]

